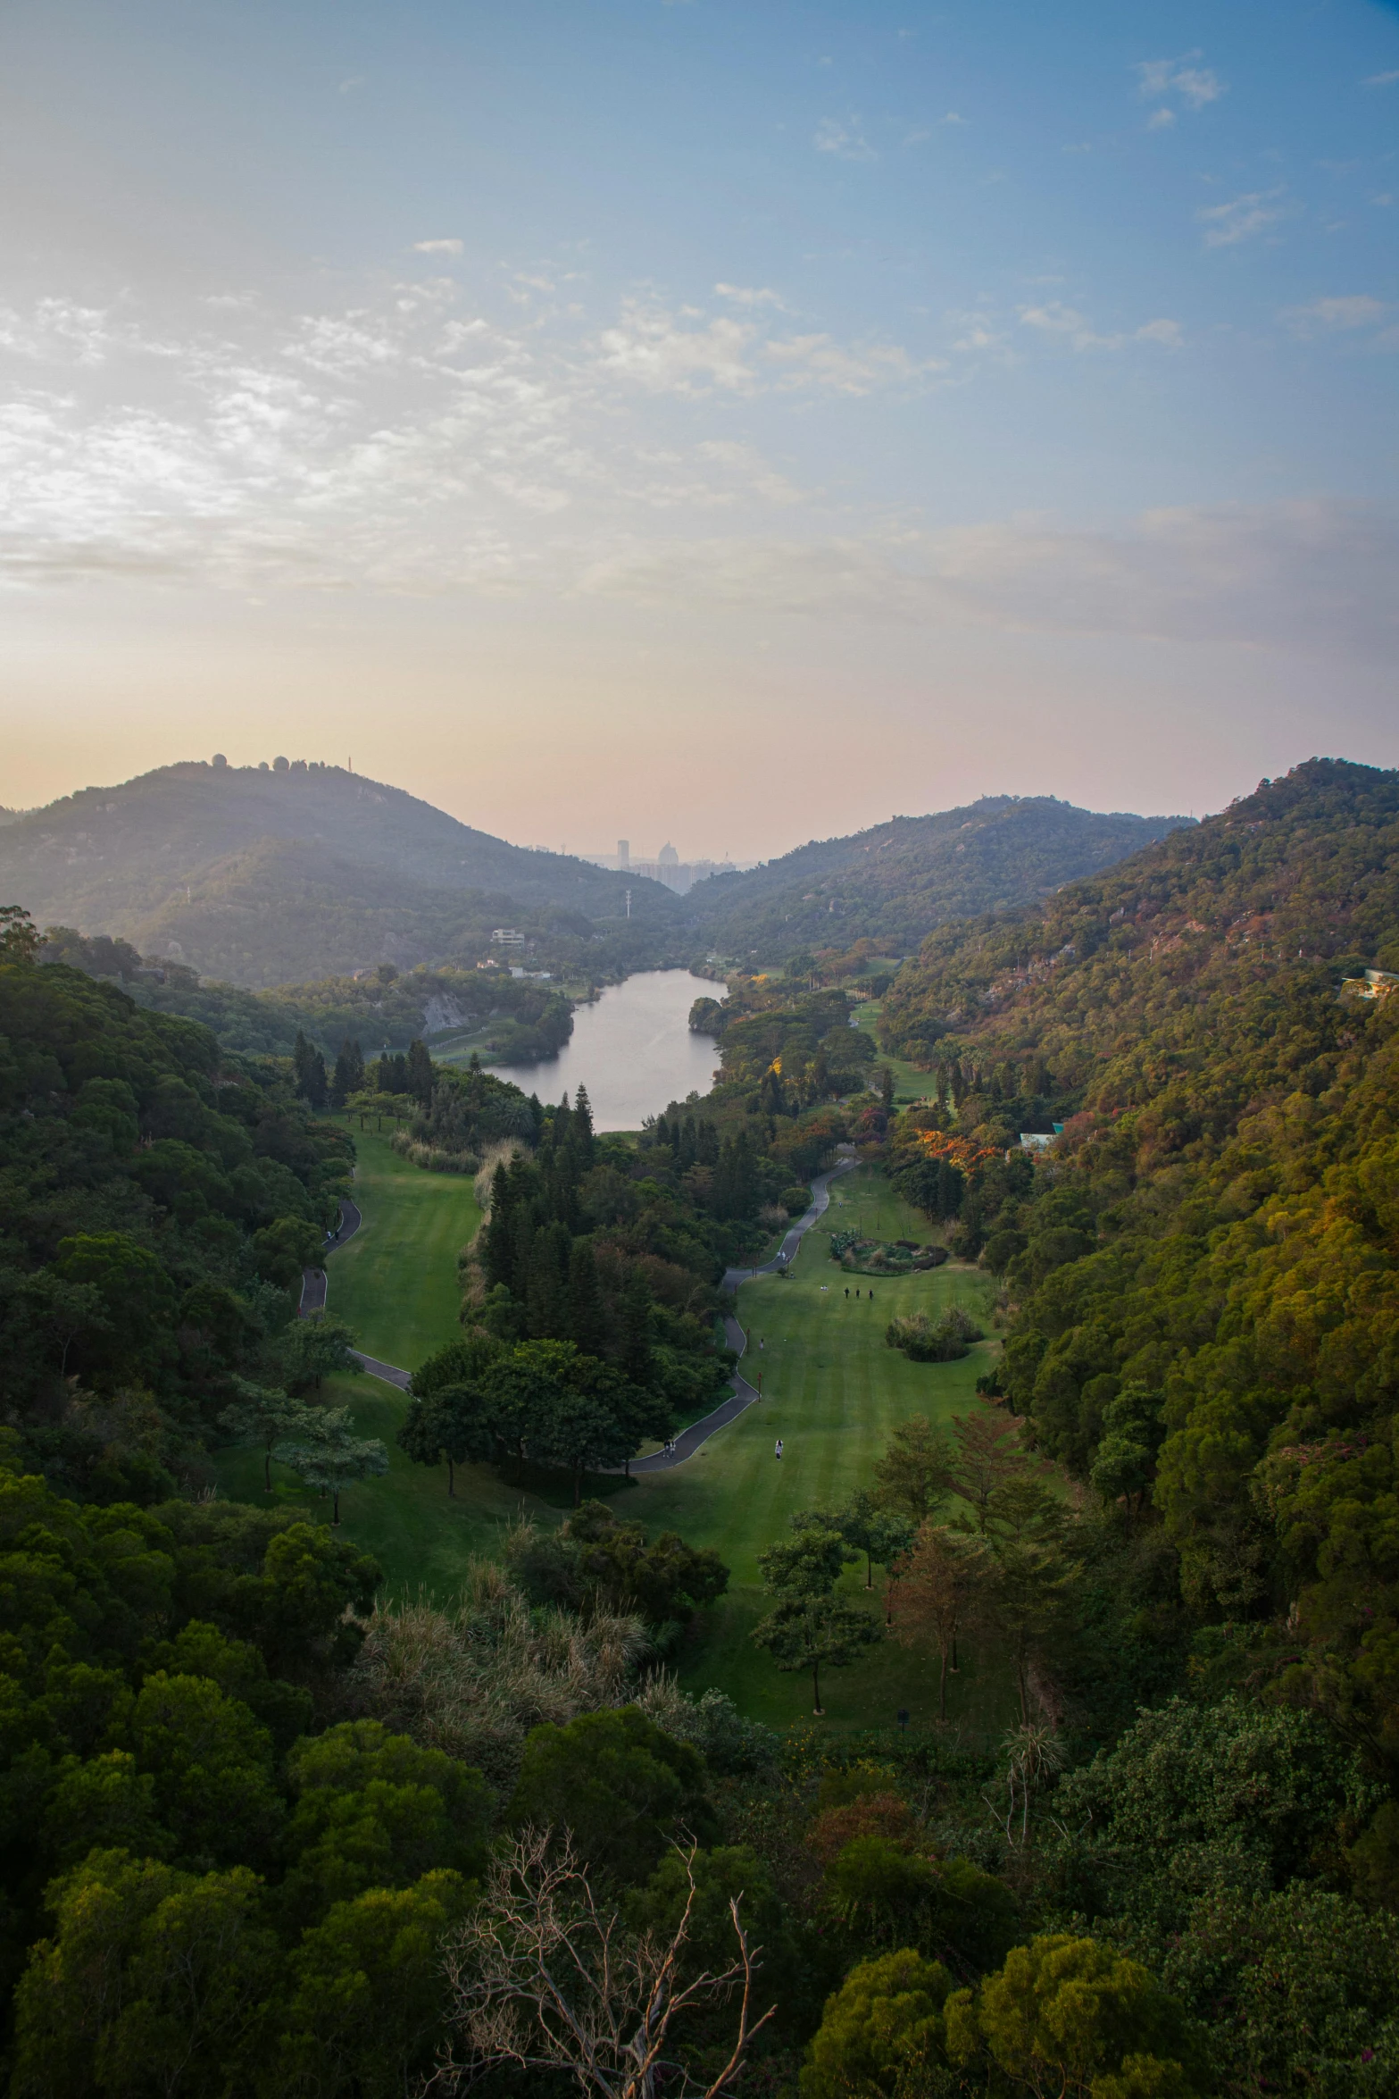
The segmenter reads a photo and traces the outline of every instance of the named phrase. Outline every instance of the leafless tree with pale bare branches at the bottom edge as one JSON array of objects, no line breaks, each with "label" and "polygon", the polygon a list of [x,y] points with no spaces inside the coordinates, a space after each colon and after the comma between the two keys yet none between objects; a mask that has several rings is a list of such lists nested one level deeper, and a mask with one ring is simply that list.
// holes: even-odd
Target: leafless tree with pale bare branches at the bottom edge
[{"label": "leafless tree with pale bare branches at the bottom edge", "polygon": [[[682,1984],[694,1908],[694,1845],[686,1862],[686,1906],[667,1942],[629,1933],[600,1904],[573,1839],[526,1828],[491,1866],[487,1893],[447,1950],[451,2023],[459,2038],[434,2078],[451,2091],[493,2063],[568,2070],[589,2099],[719,2099],[732,2089],[757,2030],[753,2017],[759,1948],[749,1946],[730,1902],[736,1958],[722,1973]],[[673,2021],[698,2005],[738,2000],[728,2061],[711,2082],[667,2053]]]}]

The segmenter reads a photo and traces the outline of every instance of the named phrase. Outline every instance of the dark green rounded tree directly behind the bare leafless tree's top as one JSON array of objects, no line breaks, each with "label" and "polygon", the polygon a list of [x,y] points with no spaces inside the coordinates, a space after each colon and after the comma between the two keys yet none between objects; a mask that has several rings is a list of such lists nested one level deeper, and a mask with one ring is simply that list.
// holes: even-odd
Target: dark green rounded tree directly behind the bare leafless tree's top
[{"label": "dark green rounded tree directly behind the bare leafless tree's top", "polygon": [[625,1883],[644,1881],[682,1830],[705,1839],[713,1811],[705,1761],[636,1706],[533,1727],[510,1801],[514,1828],[571,1830],[579,1858]]}]

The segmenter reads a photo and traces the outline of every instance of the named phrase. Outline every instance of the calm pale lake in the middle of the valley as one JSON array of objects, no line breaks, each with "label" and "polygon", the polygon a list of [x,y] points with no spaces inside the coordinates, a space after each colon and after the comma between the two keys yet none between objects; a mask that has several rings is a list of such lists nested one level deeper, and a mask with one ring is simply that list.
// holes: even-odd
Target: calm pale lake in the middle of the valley
[{"label": "calm pale lake in the middle of the valley", "polygon": [[686,1022],[696,999],[724,995],[724,984],[688,970],[642,970],[596,1005],[575,1008],[573,1039],[556,1058],[529,1070],[499,1066],[501,1077],[541,1100],[558,1100],[564,1087],[573,1098],[585,1085],[594,1129],[640,1129],[671,1100],[709,1091],[719,1045],[713,1035],[690,1035]]}]

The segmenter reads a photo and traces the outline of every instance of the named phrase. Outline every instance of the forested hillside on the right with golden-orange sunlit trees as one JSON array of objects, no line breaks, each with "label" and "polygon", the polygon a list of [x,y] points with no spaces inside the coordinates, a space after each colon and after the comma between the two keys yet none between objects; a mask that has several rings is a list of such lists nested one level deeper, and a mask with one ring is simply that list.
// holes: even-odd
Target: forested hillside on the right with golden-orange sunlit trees
[{"label": "forested hillside on the right with golden-orange sunlit trees", "polygon": [[[1162,1520],[1143,1639],[1179,1595],[1214,1694],[1319,1706],[1393,1786],[1399,987],[1363,968],[1399,968],[1399,772],[1311,760],[933,934],[885,1020],[942,1100],[900,1119],[896,1180],[1003,1278],[1003,1392]],[[1399,1897],[1399,1807],[1351,1870]]]}]

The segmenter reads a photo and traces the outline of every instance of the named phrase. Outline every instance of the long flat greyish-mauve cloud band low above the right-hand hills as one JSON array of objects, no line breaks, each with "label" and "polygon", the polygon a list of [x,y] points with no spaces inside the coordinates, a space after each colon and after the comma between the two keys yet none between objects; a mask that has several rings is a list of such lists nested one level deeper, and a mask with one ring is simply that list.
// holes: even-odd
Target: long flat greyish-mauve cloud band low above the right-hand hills
[{"label": "long flat greyish-mauve cloud band low above the right-hand hills", "polygon": [[1384,659],[1399,640],[1397,567],[1397,518],[1309,502],[1156,510],[1103,531],[1011,521],[636,544],[594,563],[583,588],[657,605]]}]

